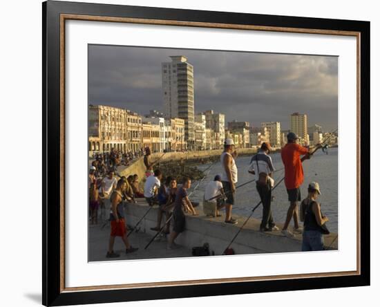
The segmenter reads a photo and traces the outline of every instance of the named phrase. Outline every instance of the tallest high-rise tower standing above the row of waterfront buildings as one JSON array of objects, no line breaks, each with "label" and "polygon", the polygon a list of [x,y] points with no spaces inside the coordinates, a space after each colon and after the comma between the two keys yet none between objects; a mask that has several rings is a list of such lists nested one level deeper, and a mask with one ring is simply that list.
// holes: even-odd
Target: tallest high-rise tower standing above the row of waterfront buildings
[{"label": "tallest high-rise tower standing above the row of waterfront buildings", "polygon": [[185,142],[194,149],[194,73],[187,57],[173,55],[171,62],[162,63],[162,96],[165,115],[184,120]]}]

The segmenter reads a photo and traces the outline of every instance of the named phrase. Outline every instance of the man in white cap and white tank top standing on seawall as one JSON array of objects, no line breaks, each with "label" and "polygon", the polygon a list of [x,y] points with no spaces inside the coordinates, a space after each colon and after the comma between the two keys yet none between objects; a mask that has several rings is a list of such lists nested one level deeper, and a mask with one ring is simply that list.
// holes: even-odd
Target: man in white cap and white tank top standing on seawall
[{"label": "man in white cap and white tank top standing on seawall", "polygon": [[220,156],[220,162],[222,162],[222,185],[226,201],[226,217],[225,223],[236,224],[238,221],[232,218],[232,205],[235,203],[235,190],[236,183],[238,182],[238,168],[236,167],[235,159],[238,153],[235,150],[234,140],[231,138],[225,139],[225,150]]}]

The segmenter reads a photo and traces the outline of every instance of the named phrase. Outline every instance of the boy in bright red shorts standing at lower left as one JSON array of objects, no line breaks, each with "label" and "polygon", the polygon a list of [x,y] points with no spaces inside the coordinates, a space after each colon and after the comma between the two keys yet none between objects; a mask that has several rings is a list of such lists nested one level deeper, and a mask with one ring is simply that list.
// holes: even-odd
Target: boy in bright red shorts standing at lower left
[{"label": "boy in bright red shorts standing at lower left", "polygon": [[120,254],[113,251],[113,244],[115,243],[115,237],[121,236],[126,247],[126,253],[135,252],[138,248],[133,248],[129,244],[129,240],[126,236],[126,226],[124,219],[124,207],[123,207],[123,193],[126,190],[126,183],[124,180],[120,179],[117,181],[116,189],[113,190],[111,194],[111,236],[108,245],[108,252],[106,254],[107,258],[117,258]]}]

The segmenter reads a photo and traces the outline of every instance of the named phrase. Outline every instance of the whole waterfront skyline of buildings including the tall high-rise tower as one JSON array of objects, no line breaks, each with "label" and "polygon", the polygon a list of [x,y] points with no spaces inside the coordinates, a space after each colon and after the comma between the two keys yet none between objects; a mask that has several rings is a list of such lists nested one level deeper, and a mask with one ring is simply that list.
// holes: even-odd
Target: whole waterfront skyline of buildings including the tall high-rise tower
[{"label": "whole waterfront skyline of buildings including the tall high-rise tower", "polygon": [[[194,106],[194,70],[183,55],[163,62],[162,101],[164,112],[139,115],[113,106],[89,106],[89,150],[104,152],[138,151],[149,146],[152,151],[222,149],[225,138],[234,140],[237,148],[285,145],[289,131],[280,122],[262,122],[250,127],[249,122],[225,123],[225,115],[212,110],[197,113]],[[290,115],[290,130],[300,136],[301,144],[317,143],[323,138],[322,128],[307,129],[307,115]],[[337,139],[336,139],[337,142]]]}]

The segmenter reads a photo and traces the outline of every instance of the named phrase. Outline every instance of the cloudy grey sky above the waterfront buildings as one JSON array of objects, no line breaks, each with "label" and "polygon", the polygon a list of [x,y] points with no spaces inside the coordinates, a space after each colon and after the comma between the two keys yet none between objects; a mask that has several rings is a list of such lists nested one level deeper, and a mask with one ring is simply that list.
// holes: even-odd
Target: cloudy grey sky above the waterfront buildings
[{"label": "cloudy grey sky above the waterfront buildings", "polygon": [[307,114],[308,126],[338,125],[338,57],[135,46],[88,46],[88,103],[145,115],[163,111],[161,63],[184,55],[194,69],[195,112],[225,121],[281,122]]}]

